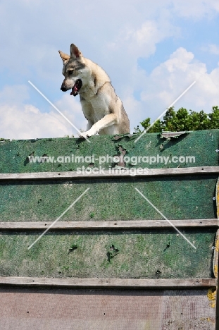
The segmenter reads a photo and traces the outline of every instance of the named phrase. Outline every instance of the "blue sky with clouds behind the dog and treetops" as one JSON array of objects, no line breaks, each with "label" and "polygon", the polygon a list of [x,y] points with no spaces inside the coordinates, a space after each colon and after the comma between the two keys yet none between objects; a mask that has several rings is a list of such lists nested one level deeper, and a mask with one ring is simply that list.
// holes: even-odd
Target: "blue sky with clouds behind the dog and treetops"
[{"label": "blue sky with clouds behind the dog and treetops", "polygon": [[75,43],[111,77],[133,130],[175,104],[195,111],[219,105],[218,0],[1,1],[0,138],[64,137],[79,129],[79,97],[61,92],[62,61]]}]

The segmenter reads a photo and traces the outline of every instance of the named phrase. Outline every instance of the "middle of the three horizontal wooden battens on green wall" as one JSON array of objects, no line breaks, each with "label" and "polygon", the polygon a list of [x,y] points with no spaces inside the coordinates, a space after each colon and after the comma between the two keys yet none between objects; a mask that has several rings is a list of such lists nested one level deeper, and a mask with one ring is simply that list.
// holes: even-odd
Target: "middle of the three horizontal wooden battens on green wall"
[{"label": "middle of the three horizontal wooden battens on green wall", "polygon": [[[170,220],[173,226],[182,227],[218,227],[218,219]],[[37,222],[0,222],[0,230],[34,230],[46,229],[51,221]],[[58,221],[52,229],[141,229],[168,228],[171,224],[166,220],[130,220],[130,221]]]}]

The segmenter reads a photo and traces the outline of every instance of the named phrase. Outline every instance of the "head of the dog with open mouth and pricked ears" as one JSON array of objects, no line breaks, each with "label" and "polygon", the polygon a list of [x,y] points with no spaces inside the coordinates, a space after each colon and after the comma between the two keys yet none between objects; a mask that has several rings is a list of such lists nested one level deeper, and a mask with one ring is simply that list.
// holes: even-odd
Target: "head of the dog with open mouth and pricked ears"
[{"label": "head of the dog with open mouth and pricked ears", "polygon": [[58,51],[63,60],[63,75],[65,79],[61,85],[61,90],[72,90],[71,95],[76,96],[82,87],[83,69],[85,69],[85,59],[75,44],[70,45],[70,56]]}]

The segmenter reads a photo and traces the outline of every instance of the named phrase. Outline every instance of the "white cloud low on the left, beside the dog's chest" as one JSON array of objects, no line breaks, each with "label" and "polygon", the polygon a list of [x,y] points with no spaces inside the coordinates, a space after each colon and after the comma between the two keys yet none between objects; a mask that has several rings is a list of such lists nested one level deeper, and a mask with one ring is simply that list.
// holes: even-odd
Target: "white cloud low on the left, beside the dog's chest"
[{"label": "white cloud low on the left, beside the dog's chest", "polygon": [[[7,86],[0,92],[1,138],[19,140],[77,135],[58,111],[51,107],[49,112],[42,113],[32,104],[24,103],[28,98],[27,87],[23,85]],[[55,105],[78,129],[86,128],[81,106],[75,98],[65,94]]]}]

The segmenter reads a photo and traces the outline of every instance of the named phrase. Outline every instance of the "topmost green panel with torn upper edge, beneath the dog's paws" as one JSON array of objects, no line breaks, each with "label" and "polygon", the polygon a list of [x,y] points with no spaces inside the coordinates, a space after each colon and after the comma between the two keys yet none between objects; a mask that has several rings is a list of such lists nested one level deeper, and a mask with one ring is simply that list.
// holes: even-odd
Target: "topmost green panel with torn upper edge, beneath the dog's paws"
[{"label": "topmost green panel with torn upper edge, beneath the dog's paws", "polygon": [[[126,150],[129,157],[142,156],[194,156],[195,163],[158,163],[148,164],[140,162],[135,167],[169,168],[169,167],[191,167],[191,166],[217,166],[219,145],[219,130],[197,130],[192,133],[180,135],[179,138],[165,140],[160,134],[145,134],[140,140],[134,143],[134,138],[123,137],[120,140],[113,140],[111,135],[99,135],[89,139],[91,143],[82,139],[56,138],[39,140],[12,140],[0,141],[0,173],[25,173],[41,171],[76,171],[78,167],[86,163],[35,163],[30,164],[27,157],[34,153],[34,156],[42,157],[46,154],[49,157],[58,156],[114,156],[119,154],[119,146]],[[163,146],[163,149],[162,149]],[[134,166],[126,164],[127,166]],[[94,161],[94,166],[99,166],[99,161]],[[111,161],[103,163],[102,166],[108,169]]]}]

